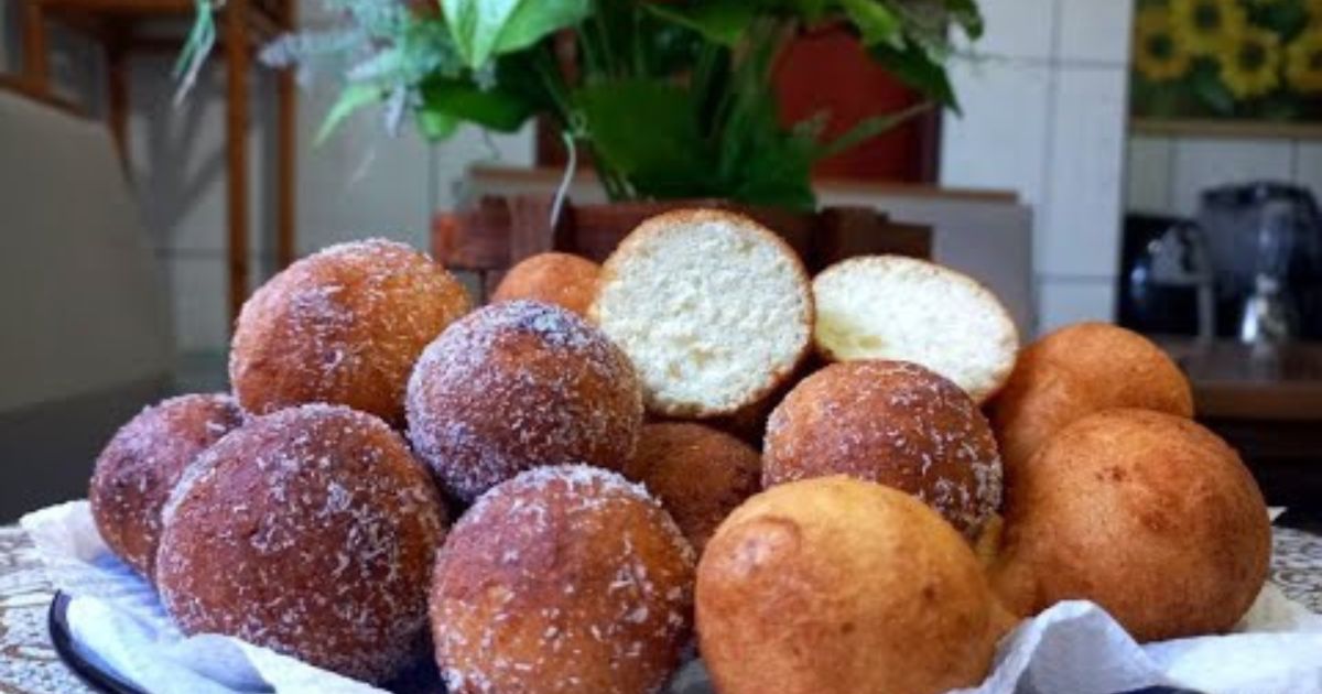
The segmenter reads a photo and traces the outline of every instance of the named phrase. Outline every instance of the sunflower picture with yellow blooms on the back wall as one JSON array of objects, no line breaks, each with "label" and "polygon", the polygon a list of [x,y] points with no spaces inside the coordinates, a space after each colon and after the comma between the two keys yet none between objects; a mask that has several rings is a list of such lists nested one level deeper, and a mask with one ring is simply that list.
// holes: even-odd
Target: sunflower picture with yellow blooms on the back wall
[{"label": "sunflower picture with yellow blooms on the back wall", "polygon": [[1136,130],[1322,136],[1322,0],[1138,0]]}]

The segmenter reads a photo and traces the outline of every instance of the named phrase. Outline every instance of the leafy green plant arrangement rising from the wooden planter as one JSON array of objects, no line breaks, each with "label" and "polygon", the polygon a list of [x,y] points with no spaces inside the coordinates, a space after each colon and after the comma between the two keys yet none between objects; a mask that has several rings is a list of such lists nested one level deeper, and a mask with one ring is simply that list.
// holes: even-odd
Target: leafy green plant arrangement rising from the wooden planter
[{"label": "leafy green plant arrangement rising from the wooden planter", "polygon": [[[205,44],[212,0],[198,0]],[[812,167],[933,104],[956,107],[951,30],[982,30],[976,0],[325,0],[340,21],[284,36],[266,62],[337,63],[321,135],[379,106],[432,140],[461,124],[514,131],[547,116],[588,152],[613,200],[723,197],[810,209]],[[795,36],[847,28],[928,99],[854,124],[783,123],[772,81]],[[194,63],[205,45],[185,53]],[[188,69],[182,70],[188,74]],[[824,75],[829,79],[829,75]],[[825,114],[822,114],[825,115]]]}]

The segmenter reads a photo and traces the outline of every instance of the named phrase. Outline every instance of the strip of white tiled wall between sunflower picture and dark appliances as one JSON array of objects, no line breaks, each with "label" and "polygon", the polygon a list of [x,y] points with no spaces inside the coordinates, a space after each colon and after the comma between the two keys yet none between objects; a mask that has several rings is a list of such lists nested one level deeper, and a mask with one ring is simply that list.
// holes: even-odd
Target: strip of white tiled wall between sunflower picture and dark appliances
[{"label": "strip of white tiled wall between sunflower picture and dark appliances", "polygon": [[1194,215],[1200,190],[1252,180],[1296,182],[1322,196],[1322,143],[1134,135],[1125,206]]}]

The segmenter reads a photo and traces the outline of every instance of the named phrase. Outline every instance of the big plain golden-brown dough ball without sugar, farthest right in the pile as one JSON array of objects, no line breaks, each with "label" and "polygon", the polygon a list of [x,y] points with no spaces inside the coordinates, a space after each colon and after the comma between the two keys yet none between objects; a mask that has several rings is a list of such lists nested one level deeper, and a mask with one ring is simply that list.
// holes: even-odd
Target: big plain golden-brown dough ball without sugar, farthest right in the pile
[{"label": "big plain golden-brown dough ball without sugar, farthest right in the pile", "polygon": [[1087,599],[1140,641],[1220,633],[1266,580],[1272,529],[1253,476],[1182,416],[1080,419],[1007,494],[993,582],[1022,615]]}]

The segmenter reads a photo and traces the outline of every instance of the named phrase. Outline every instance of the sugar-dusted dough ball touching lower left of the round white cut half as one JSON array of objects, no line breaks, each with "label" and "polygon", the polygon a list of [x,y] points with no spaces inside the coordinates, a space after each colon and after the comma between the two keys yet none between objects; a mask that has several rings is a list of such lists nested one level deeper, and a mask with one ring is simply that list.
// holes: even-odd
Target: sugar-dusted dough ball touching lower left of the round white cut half
[{"label": "sugar-dusted dough ball touching lower left of the round white cut half", "polygon": [[455,323],[408,381],[408,439],[463,501],[525,469],[620,469],[642,424],[628,357],[576,315],[493,304]]}]

